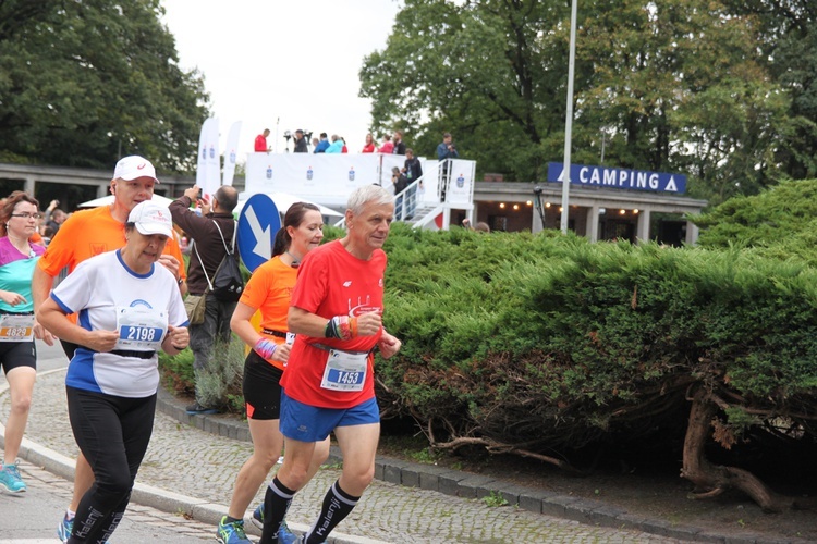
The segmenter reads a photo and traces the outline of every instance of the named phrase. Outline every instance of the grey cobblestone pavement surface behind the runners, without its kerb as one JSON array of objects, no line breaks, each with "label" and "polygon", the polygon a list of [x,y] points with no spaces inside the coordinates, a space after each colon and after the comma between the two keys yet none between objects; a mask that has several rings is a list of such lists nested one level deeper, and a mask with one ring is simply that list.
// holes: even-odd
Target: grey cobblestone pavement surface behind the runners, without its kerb
[{"label": "grey cobblestone pavement surface behind the runners, without its kerb", "polygon": [[[63,371],[38,378],[26,437],[75,458],[77,447],[68,422],[63,380]],[[8,395],[0,395],[0,421],[5,421],[8,413]],[[157,413],[153,440],[137,482],[228,505],[235,474],[251,453],[248,443],[206,433]],[[288,514],[291,524],[297,528],[297,524],[314,521],[326,490],[339,475],[340,470],[331,466],[318,472],[296,495]],[[261,498],[263,492],[264,487],[256,500]],[[135,507],[130,511],[134,510]],[[483,500],[377,480],[337,531],[394,543],[683,542],[638,531],[582,524],[515,507],[490,507]]]}]

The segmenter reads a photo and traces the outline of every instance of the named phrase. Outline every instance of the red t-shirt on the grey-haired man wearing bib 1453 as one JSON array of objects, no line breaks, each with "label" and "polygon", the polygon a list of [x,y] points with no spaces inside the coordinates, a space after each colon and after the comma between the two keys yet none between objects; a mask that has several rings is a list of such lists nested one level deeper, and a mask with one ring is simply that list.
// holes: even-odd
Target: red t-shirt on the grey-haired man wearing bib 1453
[{"label": "red t-shirt on the grey-haired man wearing bib 1453", "polygon": [[[356,317],[383,309],[383,273],[386,254],[377,249],[368,261],[353,257],[340,240],[309,251],[297,273],[292,306],[330,319]],[[320,386],[329,351],[314,347],[322,344],[346,351],[370,351],[382,335],[358,336],[350,341],[295,337],[281,385],[286,395],[300,403],[320,408],[351,408],[375,396],[374,355],[369,354],[362,391],[334,391]]]}]

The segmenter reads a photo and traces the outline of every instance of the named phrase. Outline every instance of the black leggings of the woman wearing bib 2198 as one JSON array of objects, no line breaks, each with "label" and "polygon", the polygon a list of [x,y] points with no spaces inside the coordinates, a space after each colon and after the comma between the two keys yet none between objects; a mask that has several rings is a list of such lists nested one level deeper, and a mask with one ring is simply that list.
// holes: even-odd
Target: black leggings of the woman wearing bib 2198
[{"label": "black leggings of the woman wearing bib 2198", "polygon": [[125,398],[65,387],[74,440],[94,470],[70,543],[105,542],[122,520],[150,442],[156,395]]}]

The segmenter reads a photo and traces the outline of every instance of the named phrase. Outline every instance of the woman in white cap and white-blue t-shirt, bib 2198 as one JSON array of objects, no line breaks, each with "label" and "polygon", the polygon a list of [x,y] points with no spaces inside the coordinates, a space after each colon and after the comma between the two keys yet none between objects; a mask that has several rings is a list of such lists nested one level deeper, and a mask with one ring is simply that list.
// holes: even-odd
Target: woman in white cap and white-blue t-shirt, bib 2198
[{"label": "woman in white cap and white-blue t-shirt, bib 2198", "polygon": [[156,264],[172,226],[168,208],[138,203],[124,247],[82,262],[37,312],[46,329],[78,345],[65,376],[69,418],[96,481],[69,542],[105,542],[117,529],[153,433],[157,353],[175,355],[190,342],[176,280]]}]

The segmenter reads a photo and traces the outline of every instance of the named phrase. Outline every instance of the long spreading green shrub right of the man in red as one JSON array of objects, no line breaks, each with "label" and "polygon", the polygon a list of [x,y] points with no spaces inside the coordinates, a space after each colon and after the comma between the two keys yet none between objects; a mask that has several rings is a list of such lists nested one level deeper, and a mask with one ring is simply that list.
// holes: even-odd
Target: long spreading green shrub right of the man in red
[{"label": "long spreading green shrub right of the man in red", "polygon": [[733,433],[783,416],[814,434],[797,419],[817,393],[803,263],[403,225],[387,251],[385,321],[405,344],[378,362],[381,405],[438,438],[540,453],[643,441],[684,428],[694,384],[734,407]]}]

